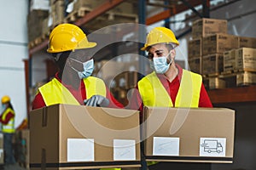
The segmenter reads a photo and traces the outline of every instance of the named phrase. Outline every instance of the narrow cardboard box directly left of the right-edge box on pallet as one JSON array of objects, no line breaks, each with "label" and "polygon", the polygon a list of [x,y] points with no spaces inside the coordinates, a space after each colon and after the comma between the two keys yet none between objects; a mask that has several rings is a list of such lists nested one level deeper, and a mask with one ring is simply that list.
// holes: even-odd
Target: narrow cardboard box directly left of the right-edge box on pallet
[{"label": "narrow cardboard box directly left of the right-edge box on pallet", "polygon": [[236,68],[236,56],[235,56],[236,49],[231,49],[230,51],[224,52],[224,72],[227,71],[234,71]]}]

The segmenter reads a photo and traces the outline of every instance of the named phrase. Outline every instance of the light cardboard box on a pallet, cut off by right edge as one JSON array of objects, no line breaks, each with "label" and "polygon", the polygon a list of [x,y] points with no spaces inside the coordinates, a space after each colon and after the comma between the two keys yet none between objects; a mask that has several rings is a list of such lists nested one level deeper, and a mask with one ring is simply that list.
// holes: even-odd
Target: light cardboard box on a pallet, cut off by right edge
[{"label": "light cardboard box on a pallet, cut off by right edge", "polygon": [[236,49],[236,70],[256,71],[256,48]]}]

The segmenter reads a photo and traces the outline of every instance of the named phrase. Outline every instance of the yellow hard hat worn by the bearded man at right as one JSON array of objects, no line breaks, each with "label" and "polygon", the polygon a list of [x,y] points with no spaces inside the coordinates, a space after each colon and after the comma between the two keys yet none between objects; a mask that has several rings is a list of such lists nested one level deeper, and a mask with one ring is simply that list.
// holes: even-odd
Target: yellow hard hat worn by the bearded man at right
[{"label": "yellow hard hat worn by the bearded man at right", "polygon": [[152,46],[157,43],[175,43],[179,45],[172,30],[166,27],[155,27],[153,30],[149,31],[147,36],[147,41],[141,50],[146,50],[148,46]]}]

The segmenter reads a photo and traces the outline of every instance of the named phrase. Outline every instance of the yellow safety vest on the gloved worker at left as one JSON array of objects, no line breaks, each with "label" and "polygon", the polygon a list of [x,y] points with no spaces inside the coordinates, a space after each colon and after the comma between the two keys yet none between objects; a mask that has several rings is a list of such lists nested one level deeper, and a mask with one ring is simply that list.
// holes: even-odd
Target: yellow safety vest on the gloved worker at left
[{"label": "yellow safety vest on the gloved worker at left", "polygon": [[[86,89],[86,99],[89,99],[95,94],[106,97],[106,86],[101,79],[87,77],[84,79],[84,86]],[[42,94],[44,103],[47,106],[55,104],[80,105],[79,101],[73,97],[73,94],[71,94],[56,78],[38,88],[38,91]]]}]

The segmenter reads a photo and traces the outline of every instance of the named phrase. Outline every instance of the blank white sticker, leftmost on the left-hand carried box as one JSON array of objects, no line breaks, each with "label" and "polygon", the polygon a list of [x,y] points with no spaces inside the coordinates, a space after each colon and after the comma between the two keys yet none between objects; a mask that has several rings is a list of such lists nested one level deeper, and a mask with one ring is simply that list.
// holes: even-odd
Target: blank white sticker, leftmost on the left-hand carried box
[{"label": "blank white sticker, leftmost on the left-hand carried box", "polygon": [[94,161],[94,139],[67,139],[67,161]]}]

